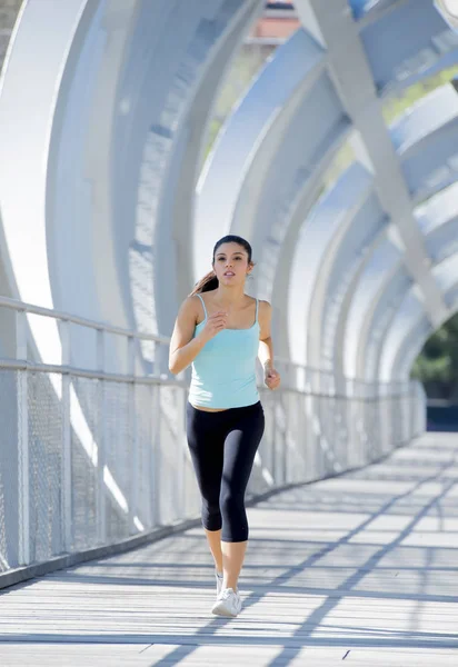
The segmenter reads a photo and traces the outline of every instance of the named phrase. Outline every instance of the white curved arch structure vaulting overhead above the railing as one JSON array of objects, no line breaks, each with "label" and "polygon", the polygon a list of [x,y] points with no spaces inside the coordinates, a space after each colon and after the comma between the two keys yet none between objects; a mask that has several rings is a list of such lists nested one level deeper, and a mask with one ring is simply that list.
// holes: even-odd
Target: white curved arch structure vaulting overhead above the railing
[{"label": "white curved arch structure vaulting overhead above the railing", "polygon": [[[347,377],[406,379],[406,350],[457,308],[458,98],[444,86],[390,128],[382,103],[458,62],[458,34],[430,0],[297,0],[302,28],[200,172],[213,102],[262,6],[23,4],[0,94],[6,289],[169,334],[217,238],[240,233],[282,357],[333,374],[342,390]],[[346,145],[352,157],[332,181]],[[57,328],[30,326],[34,354],[58,361]],[[123,350],[110,352],[110,369],[123,369]],[[73,355],[94,360],[81,337]],[[138,350],[139,369],[155,361]]]}]

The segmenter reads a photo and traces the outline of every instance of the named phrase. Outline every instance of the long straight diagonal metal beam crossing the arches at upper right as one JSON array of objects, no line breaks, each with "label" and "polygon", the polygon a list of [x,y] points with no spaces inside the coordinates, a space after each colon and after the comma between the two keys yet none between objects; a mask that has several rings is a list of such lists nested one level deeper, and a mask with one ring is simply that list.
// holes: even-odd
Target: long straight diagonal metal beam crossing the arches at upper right
[{"label": "long straight diagonal metal beam crossing the arches at upper right", "polygon": [[372,165],[380,202],[399,230],[406,266],[419,286],[429,319],[436,325],[444,319],[446,305],[430,272],[430,259],[412,215],[409,192],[348,2],[298,0],[296,6],[306,28],[327,48],[331,76]]}]

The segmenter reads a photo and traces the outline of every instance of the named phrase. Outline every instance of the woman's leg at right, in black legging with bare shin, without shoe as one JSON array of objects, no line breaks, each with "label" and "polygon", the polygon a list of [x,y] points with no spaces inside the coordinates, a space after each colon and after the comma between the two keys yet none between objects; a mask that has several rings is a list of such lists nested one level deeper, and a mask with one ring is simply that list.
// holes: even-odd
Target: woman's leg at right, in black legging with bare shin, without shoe
[{"label": "woman's leg at right, in black legging with bare shin, without shoe", "polygon": [[238,408],[225,441],[220,508],[222,514],[223,588],[237,590],[248,540],[245,492],[265,428],[260,404]]}]

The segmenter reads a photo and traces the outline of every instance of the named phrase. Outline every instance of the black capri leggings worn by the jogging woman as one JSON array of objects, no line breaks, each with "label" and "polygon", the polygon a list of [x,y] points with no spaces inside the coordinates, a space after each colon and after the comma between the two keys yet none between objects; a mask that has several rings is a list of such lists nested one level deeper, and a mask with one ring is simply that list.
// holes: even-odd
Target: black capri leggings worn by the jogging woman
[{"label": "black capri leggings worn by the jogging woman", "polygon": [[246,541],[245,491],[265,428],[260,402],[220,412],[188,402],[187,435],[202,496],[202,525],[225,541]]}]

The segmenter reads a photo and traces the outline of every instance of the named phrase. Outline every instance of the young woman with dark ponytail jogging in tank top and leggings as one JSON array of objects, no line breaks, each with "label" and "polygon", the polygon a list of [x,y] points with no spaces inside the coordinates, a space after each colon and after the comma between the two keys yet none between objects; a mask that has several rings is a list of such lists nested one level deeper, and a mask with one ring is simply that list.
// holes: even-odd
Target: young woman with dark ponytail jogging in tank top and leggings
[{"label": "young woman with dark ponytail jogging in tank top and leggings", "polygon": [[192,364],[187,435],[216,566],[212,613],[236,617],[248,540],[245,491],[265,428],[256,358],[269,389],[280,385],[280,376],[273,368],[270,305],[245,293],[253,268],[251,246],[223,237],[215,246],[212,267],[180,308],[169,368],[179,374]]}]

